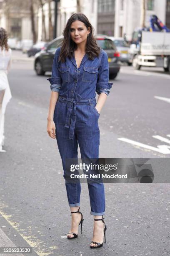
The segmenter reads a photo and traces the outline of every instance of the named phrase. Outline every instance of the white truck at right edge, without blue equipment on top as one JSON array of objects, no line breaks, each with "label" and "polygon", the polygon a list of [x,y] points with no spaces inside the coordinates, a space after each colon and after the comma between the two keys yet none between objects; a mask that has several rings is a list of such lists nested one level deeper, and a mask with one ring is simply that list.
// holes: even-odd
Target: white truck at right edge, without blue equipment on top
[{"label": "white truck at right edge, without blue equipment on top", "polygon": [[139,44],[131,44],[129,49],[133,67],[163,67],[170,72],[170,33],[138,31],[138,36]]}]

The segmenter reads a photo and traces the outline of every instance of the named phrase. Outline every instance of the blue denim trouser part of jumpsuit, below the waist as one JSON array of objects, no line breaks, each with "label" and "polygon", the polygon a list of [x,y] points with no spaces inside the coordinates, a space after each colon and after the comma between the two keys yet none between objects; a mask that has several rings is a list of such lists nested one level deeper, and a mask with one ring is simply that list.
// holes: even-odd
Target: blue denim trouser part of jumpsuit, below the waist
[{"label": "blue denim trouser part of jumpsuit, below the waist", "polygon": [[[55,133],[57,145],[62,159],[64,170],[63,177],[67,173],[67,159],[77,159],[78,145],[82,159],[99,158],[100,131],[98,126],[98,118],[100,114],[97,112],[95,105],[96,100],[81,100],[76,102],[76,113],[73,110],[73,117],[76,115],[74,132],[71,130],[73,139],[69,139],[69,129],[65,126],[67,111],[71,102],[65,98],[58,97],[54,111]],[[87,173],[86,173],[87,174]],[[88,182],[91,215],[105,214],[105,191],[103,183]],[[67,190],[67,198],[70,207],[80,205],[80,182],[68,183],[65,180]]]}]

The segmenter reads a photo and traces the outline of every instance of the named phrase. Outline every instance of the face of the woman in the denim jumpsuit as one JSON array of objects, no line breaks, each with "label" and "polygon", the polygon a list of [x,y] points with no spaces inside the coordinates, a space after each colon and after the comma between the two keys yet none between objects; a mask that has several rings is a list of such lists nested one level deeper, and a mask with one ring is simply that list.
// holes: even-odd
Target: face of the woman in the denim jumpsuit
[{"label": "face of the woman in the denim jumpsuit", "polygon": [[87,30],[85,24],[80,20],[72,22],[70,27],[70,37],[72,41],[74,41],[76,44],[86,41],[87,35],[90,33],[90,27],[88,29],[89,30]]}]

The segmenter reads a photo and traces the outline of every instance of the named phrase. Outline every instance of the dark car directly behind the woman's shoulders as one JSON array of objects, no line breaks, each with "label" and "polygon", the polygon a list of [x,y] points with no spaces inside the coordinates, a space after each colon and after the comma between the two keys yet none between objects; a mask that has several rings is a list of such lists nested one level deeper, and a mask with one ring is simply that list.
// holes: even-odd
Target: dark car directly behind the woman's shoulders
[{"label": "dark car directly behind the woman's shoulders", "polygon": [[[95,38],[97,44],[107,53],[110,78],[114,79],[120,70],[120,64],[118,63],[120,54],[117,52],[115,44],[109,37],[105,35],[97,35]],[[48,44],[44,51],[35,55],[34,69],[37,75],[44,75],[46,71],[52,70],[55,51],[61,46],[62,41],[62,36],[55,38]]]}]

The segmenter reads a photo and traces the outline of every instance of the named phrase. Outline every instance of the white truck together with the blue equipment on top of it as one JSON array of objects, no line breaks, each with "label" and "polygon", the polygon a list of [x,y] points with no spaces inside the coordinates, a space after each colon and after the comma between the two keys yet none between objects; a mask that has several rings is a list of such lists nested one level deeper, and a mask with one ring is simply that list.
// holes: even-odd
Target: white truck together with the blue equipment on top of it
[{"label": "white truck together with the blue equipment on top of it", "polygon": [[163,67],[165,72],[170,72],[170,30],[152,15],[150,28],[133,32],[129,53],[134,69]]}]

